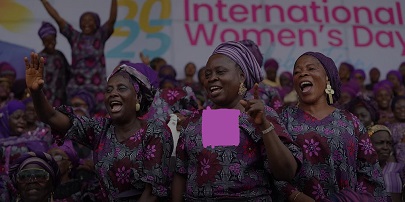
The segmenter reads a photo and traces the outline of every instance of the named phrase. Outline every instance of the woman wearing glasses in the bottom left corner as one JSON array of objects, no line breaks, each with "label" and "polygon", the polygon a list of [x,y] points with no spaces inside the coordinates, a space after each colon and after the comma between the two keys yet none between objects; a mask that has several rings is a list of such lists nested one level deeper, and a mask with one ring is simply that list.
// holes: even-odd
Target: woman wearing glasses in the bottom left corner
[{"label": "woman wearing glasses in the bottom left corner", "polygon": [[15,188],[11,190],[11,201],[53,201],[53,192],[60,182],[58,165],[44,152],[22,155],[13,163],[9,176]]}]

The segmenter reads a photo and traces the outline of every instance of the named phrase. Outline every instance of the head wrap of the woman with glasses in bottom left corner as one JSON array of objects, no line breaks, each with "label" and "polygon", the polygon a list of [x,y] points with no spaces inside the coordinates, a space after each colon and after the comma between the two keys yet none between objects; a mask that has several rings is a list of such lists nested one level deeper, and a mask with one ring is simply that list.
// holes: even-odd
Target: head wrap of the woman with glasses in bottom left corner
[{"label": "head wrap of the woman with glasses in bottom left corner", "polygon": [[18,172],[20,172],[28,164],[36,164],[41,166],[46,172],[49,173],[52,180],[52,187],[57,187],[59,185],[60,171],[58,164],[52,158],[52,156],[45,152],[27,152],[16,159],[10,167],[9,175],[15,186],[17,185]]}]

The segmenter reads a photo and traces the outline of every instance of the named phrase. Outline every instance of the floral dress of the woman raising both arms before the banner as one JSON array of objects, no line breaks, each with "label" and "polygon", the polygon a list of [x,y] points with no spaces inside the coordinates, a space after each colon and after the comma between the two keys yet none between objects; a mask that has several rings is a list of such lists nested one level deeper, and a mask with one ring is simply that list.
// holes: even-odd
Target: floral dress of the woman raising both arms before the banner
[{"label": "floral dress of the woman raising both arms before the banner", "polygon": [[[106,87],[104,46],[114,30],[108,29],[108,25],[104,24],[96,30],[94,35],[86,36],[75,30],[72,25],[66,24],[60,31],[68,39],[72,48],[68,95],[75,90],[84,89],[93,93],[96,103],[103,103]],[[104,105],[99,104],[96,111],[103,107]]]}]

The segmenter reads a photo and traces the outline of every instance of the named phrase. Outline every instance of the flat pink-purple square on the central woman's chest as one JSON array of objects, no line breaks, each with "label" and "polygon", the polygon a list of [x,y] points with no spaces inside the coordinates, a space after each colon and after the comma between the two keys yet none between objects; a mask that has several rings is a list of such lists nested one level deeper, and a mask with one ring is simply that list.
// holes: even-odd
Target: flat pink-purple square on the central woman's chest
[{"label": "flat pink-purple square on the central woman's chest", "polygon": [[240,111],[236,109],[210,109],[202,114],[203,146],[237,146],[240,142]]}]

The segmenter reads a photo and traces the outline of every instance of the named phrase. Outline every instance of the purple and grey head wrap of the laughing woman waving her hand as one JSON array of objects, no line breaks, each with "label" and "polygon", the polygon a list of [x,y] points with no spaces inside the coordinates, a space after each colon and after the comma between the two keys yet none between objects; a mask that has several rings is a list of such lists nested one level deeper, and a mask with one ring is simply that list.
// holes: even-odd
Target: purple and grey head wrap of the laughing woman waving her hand
[{"label": "purple and grey head wrap of the laughing woman waving her hand", "polygon": [[155,96],[157,89],[155,86],[159,86],[156,72],[143,63],[126,63],[116,67],[107,80],[118,72],[129,74],[141,105],[139,115],[145,114]]}]

